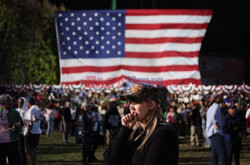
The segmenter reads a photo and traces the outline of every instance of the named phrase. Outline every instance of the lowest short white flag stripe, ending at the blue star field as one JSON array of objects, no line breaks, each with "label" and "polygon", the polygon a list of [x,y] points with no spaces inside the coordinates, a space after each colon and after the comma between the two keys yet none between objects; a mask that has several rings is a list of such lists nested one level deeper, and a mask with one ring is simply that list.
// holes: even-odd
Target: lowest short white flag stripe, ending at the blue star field
[{"label": "lowest short white flag stripe, ending at the blue star field", "polygon": [[180,43],[163,43],[163,44],[126,44],[126,52],[194,52],[199,51],[201,43],[180,44]]}]

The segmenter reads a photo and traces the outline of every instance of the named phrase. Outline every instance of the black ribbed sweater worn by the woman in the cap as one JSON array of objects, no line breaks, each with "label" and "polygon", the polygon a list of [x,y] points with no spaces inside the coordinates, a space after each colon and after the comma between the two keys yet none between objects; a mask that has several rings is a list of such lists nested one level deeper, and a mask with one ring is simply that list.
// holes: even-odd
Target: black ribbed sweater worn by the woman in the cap
[{"label": "black ribbed sweater worn by the woman in the cap", "polygon": [[[120,133],[104,152],[107,165],[154,165],[178,164],[179,146],[177,135],[167,123],[159,123],[145,143],[142,150],[137,150],[145,133],[137,141],[129,140],[132,129],[122,126]],[[135,137],[142,132],[139,129]]]}]

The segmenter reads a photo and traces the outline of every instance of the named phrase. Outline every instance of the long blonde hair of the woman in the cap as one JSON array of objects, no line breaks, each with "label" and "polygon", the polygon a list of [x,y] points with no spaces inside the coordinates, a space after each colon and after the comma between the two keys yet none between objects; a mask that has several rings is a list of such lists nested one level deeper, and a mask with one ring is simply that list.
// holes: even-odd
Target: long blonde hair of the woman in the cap
[{"label": "long blonde hair of the woman in the cap", "polygon": [[[149,104],[151,101],[154,101],[154,100],[148,98],[148,101],[146,101],[146,103]],[[150,110],[148,115],[146,116],[146,118],[147,118],[146,129],[144,131],[142,131],[137,137],[134,137],[135,132],[140,128],[140,124],[137,121],[129,139],[130,140],[134,139],[134,141],[136,141],[146,132],[146,135],[145,135],[142,143],[140,144],[140,146],[137,148],[137,150],[142,150],[143,146],[145,145],[145,143],[147,142],[149,137],[153,134],[153,132],[157,126],[158,121],[160,119],[162,119],[162,116],[163,116],[163,112],[162,112],[162,109],[160,108],[160,104],[156,103],[154,110]]]}]

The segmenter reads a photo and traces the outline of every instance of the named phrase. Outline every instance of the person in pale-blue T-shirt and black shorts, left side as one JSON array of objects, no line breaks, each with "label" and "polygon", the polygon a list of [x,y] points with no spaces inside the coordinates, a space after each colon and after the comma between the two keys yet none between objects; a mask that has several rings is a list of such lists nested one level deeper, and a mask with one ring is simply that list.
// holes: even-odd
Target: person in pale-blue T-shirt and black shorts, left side
[{"label": "person in pale-blue T-shirt and black shorts, left side", "polygon": [[35,99],[32,96],[27,98],[27,106],[29,110],[24,120],[24,123],[26,124],[24,131],[26,140],[26,153],[28,155],[30,164],[36,165],[36,147],[39,145],[40,134],[42,134],[42,130],[40,128],[42,113],[40,108],[35,105]]}]

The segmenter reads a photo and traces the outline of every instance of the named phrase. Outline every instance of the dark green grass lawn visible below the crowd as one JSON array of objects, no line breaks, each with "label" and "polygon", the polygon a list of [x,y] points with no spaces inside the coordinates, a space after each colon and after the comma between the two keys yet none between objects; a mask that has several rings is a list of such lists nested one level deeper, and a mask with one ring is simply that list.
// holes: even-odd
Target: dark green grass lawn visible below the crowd
[{"label": "dark green grass lawn visible below the crowd", "polygon": [[[37,164],[40,165],[81,165],[82,145],[74,144],[74,137],[70,137],[69,144],[63,144],[62,133],[51,133],[51,136],[40,136],[37,148]],[[106,146],[98,147],[95,156],[98,162],[90,165],[104,165],[103,151]],[[241,165],[250,164],[250,139],[243,139],[240,155]],[[210,164],[210,149],[204,147],[191,147],[189,137],[180,143],[179,164],[181,165],[208,165]]]}]

